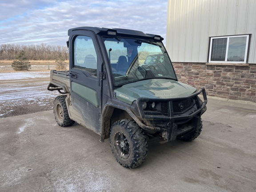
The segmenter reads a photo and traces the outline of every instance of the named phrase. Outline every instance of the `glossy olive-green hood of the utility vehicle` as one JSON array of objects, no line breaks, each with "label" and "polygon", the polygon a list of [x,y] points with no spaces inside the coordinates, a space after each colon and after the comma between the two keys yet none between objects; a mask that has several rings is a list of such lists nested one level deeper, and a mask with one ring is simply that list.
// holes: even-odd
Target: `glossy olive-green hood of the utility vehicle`
[{"label": "glossy olive-green hood of the utility vehicle", "polygon": [[142,80],[115,89],[116,98],[128,104],[140,97],[172,99],[189,96],[194,92],[196,88],[169,79]]}]

